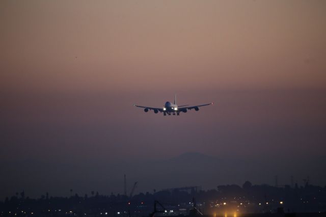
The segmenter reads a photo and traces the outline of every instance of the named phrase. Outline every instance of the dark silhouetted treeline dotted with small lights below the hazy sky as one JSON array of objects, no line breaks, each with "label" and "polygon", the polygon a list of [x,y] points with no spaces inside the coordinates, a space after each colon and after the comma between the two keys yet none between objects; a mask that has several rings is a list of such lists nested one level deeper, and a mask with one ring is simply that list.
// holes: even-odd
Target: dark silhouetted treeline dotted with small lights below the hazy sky
[{"label": "dark silhouetted treeline dotted with small lights below the hazy sky", "polygon": [[[129,198],[124,195],[101,195],[98,192],[91,192],[90,196],[85,194],[79,196],[72,194],[70,197],[51,197],[45,193],[38,199],[31,199],[25,196],[24,191],[16,193],[12,197],[6,197],[0,202],[0,211],[3,213],[15,212],[16,215],[26,213],[52,213],[52,212],[79,212],[79,213],[100,213],[110,212],[117,214],[126,210],[137,210],[139,216],[147,215],[152,210],[154,200],[170,207],[188,207],[192,205],[193,198],[202,205],[203,209],[209,209],[215,204],[242,204],[250,203],[256,206],[263,205],[282,206],[289,210],[300,211],[325,211],[326,210],[326,186],[305,186],[275,187],[270,185],[252,185],[246,181],[242,186],[219,185],[216,189],[199,192],[158,191],[153,194],[140,193]],[[55,211],[56,210],[56,211]],[[26,212],[26,213],[25,213]],[[122,214],[121,213],[121,214]]]}]

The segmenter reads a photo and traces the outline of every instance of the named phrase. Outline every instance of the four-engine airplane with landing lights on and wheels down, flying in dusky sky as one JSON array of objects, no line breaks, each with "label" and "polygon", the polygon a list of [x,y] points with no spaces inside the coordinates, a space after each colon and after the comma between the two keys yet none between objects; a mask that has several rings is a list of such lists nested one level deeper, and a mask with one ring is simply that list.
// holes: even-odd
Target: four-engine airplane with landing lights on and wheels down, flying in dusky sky
[{"label": "four-engine airplane with landing lights on and wheels down, flying in dusky sky", "polygon": [[154,108],[154,107],[148,107],[148,106],[141,106],[141,105],[133,105],[136,107],[141,107],[144,108],[144,112],[148,112],[149,110],[153,110],[155,114],[157,114],[158,112],[163,113],[164,116],[168,115],[180,115],[180,112],[186,113],[187,110],[192,110],[194,109],[195,111],[199,111],[199,107],[201,106],[206,106],[206,105],[212,105],[213,102],[208,103],[208,104],[202,104],[202,105],[194,105],[194,106],[189,106],[189,107],[185,107],[188,105],[177,105],[177,95],[174,96],[174,103],[172,102],[166,102],[164,107],[162,108]]}]

